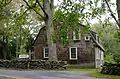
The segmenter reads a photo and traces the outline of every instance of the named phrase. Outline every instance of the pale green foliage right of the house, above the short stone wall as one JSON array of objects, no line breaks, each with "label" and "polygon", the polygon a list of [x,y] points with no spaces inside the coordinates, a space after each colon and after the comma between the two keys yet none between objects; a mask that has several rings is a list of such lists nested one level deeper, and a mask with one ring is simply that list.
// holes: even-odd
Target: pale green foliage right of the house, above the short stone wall
[{"label": "pale green foliage right of the house, above the short stone wall", "polygon": [[105,48],[105,60],[109,62],[120,62],[120,42],[119,31],[116,30],[115,25],[103,24],[103,26],[96,24],[92,27],[96,31],[100,38],[103,47]]}]

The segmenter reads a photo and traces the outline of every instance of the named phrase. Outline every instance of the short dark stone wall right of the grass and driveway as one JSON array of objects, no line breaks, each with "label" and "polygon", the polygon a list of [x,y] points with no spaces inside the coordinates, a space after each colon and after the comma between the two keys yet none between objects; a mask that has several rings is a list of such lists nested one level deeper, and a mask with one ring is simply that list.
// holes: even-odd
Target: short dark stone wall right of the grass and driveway
[{"label": "short dark stone wall right of the grass and driveway", "polygon": [[120,64],[105,62],[102,66],[101,73],[120,76]]}]

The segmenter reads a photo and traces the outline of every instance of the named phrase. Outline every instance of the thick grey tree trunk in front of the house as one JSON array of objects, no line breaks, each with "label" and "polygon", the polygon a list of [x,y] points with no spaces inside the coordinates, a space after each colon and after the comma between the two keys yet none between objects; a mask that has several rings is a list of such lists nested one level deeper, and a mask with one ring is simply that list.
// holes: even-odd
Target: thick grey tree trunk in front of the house
[{"label": "thick grey tree trunk in front of the house", "polygon": [[[51,3],[50,3],[51,2]],[[54,2],[53,0],[48,1],[44,0],[44,10],[47,13],[47,17],[45,19],[45,25],[47,30],[47,43],[49,47],[49,61],[57,61],[57,53],[56,53],[56,43],[53,41],[53,33],[54,33],[54,27],[53,27],[53,13],[54,13]]]}]

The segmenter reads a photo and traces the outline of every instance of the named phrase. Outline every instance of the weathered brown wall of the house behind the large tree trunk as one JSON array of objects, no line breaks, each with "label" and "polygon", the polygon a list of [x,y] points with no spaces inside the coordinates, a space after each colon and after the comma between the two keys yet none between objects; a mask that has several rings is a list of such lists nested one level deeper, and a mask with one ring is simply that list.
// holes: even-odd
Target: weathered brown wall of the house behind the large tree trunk
[{"label": "weathered brown wall of the house behind the large tree trunk", "polygon": [[[93,35],[92,35],[93,34]],[[99,48],[100,51],[104,51],[104,49],[99,46],[95,41],[95,33],[92,33],[89,40],[85,39],[85,35],[81,35],[80,40],[72,40],[72,42],[62,48],[57,46],[57,56],[58,60],[67,61],[68,64],[74,66],[81,67],[100,67],[101,58],[103,54],[98,53]],[[69,36],[72,39],[72,36]],[[93,39],[94,38],[94,39]],[[60,44],[57,44],[60,45]],[[44,48],[47,47],[47,38],[46,38],[46,28],[41,28],[36,40],[34,41],[34,59],[48,60],[48,58],[44,58]],[[70,59],[70,48],[77,48],[77,58]],[[97,53],[97,54],[96,54]],[[97,55],[101,55],[99,59],[97,59]],[[99,61],[99,62],[98,62]]]}]

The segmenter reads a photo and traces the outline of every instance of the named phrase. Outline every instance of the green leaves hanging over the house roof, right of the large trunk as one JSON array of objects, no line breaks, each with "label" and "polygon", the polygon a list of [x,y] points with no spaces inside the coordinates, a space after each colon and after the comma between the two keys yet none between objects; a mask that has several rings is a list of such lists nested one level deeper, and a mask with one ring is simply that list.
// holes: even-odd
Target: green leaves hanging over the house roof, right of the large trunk
[{"label": "green leaves hanging over the house roof, right of the large trunk", "polygon": [[68,44],[71,40],[67,38],[70,32],[76,31],[79,32],[80,24],[84,24],[86,27],[84,31],[80,31],[84,33],[88,31],[90,27],[90,20],[94,18],[101,17],[102,14],[105,13],[104,2],[101,1],[101,5],[99,0],[64,0],[61,1],[61,4],[57,7],[54,13],[55,27],[60,28],[60,40],[63,45]]}]

